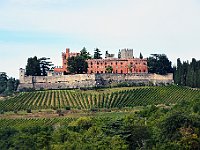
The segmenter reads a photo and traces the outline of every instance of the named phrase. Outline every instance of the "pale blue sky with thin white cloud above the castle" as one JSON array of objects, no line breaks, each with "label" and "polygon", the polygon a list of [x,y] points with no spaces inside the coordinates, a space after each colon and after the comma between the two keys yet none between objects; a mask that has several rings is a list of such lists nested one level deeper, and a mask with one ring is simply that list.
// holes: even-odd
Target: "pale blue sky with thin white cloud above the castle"
[{"label": "pale blue sky with thin white cloud above the castle", "polygon": [[199,0],[0,0],[0,72],[18,78],[29,57],[61,66],[66,48],[117,56],[200,56]]}]

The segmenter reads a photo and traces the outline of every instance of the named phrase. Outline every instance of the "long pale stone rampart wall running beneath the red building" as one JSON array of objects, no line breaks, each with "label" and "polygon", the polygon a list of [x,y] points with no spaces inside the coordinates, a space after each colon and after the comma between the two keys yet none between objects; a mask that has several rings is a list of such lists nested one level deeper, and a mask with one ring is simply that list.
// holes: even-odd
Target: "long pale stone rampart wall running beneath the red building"
[{"label": "long pale stone rampart wall running beneath the red building", "polygon": [[52,76],[24,76],[20,78],[18,90],[35,89],[66,89],[80,87],[104,86],[112,83],[173,83],[173,74],[165,76],[157,74],[75,74]]}]

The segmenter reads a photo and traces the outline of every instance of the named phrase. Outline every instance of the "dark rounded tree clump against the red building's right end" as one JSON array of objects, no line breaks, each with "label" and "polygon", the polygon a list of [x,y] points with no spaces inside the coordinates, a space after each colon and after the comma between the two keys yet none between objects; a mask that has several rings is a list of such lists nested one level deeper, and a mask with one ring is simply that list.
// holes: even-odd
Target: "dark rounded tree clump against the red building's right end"
[{"label": "dark rounded tree clump against the red building's right end", "polygon": [[149,73],[165,75],[173,72],[172,63],[165,54],[152,54],[147,62]]}]

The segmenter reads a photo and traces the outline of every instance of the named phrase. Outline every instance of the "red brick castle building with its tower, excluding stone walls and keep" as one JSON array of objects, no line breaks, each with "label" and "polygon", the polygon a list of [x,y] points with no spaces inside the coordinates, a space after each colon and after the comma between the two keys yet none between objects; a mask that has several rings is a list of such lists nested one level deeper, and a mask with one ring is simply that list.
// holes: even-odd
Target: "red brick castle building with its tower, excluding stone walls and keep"
[{"label": "red brick castle building with its tower, excluding stone walls and keep", "polygon": [[[62,53],[62,67],[54,69],[56,73],[68,72],[67,59],[72,56],[77,56],[79,53],[70,53],[69,48],[65,53]],[[112,73],[127,74],[127,73],[148,73],[147,59],[140,58],[107,58],[107,59],[89,59],[88,72],[92,73],[107,73],[106,68],[112,67]]]}]

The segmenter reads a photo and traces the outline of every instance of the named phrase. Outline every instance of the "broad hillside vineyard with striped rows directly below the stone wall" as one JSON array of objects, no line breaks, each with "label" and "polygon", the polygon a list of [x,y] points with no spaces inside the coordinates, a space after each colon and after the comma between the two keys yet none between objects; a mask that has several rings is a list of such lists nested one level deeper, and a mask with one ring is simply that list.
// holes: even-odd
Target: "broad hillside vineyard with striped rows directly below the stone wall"
[{"label": "broad hillside vineyard with striped rows directly below the stone wall", "polygon": [[200,91],[179,86],[126,88],[109,91],[47,90],[21,92],[0,101],[0,110],[122,108],[174,104],[200,98]]}]

